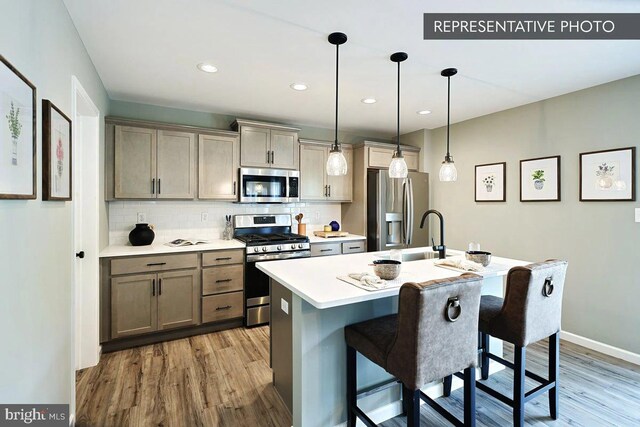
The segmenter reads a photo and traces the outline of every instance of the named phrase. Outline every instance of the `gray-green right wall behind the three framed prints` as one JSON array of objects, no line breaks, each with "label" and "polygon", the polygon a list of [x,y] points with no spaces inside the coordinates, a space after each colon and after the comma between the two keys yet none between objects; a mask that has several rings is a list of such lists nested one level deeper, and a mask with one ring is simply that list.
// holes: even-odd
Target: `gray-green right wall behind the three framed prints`
[{"label": "gray-green right wall behind the three framed prints", "polygon": [[[474,241],[496,255],[568,260],[563,330],[634,353],[640,353],[640,224],[634,222],[640,204],[578,201],[578,155],[638,146],[639,112],[635,76],[453,125],[457,182],[437,177],[444,128],[430,132],[425,153],[431,206],[444,214],[449,247]],[[521,203],[519,161],[552,155],[562,156],[562,201]],[[507,162],[507,201],[476,203],[474,165],[494,162]]]}]

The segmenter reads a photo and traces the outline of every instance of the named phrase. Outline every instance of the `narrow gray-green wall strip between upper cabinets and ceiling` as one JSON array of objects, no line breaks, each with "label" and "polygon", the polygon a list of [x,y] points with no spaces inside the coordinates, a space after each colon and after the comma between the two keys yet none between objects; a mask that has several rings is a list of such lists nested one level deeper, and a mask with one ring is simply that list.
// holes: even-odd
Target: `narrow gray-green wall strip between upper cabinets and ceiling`
[{"label": "narrow gray-green wall strip between upper cabinets and ceiling", "polygon": [[[111,101],[110,114],[115,117],[125,117],[130,119],[151,120],[156,122],[174,123],[191,126],[204,126],[216,129],[229,129],[231,123],[237,116],[208,113],[203,111],[190,111],[179,108],[162,107],[149,104],[138,104],[135,102]],[[252,117],[238,117],[243,119],[251,119]],[[256,120],[269,121],[269,119],[260,118]],[[277,123],[277,122],[276,122]],[[300,128],[300,137],[308,139],[320,139],[325,141],[333,141],[334,130],[326,128],[318,128],[313,126],[298,125],[291,121],[284,123]],[[366,136],[358,135],[354,132],[339,132],[338,139],[345,144],[355,144],[365,139],[376,139],[388,141],[387,134],[372,132]]]}]

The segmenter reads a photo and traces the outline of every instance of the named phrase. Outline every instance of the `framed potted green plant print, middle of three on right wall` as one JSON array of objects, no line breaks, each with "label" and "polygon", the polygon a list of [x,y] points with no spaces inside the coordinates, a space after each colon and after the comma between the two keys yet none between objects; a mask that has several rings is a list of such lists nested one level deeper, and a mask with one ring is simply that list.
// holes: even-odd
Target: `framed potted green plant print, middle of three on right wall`
[{"label": "framed potted green plant print, middle of three on right wall", "polygon": [[520,160],[520,201],[560,201],[560,156]]}]

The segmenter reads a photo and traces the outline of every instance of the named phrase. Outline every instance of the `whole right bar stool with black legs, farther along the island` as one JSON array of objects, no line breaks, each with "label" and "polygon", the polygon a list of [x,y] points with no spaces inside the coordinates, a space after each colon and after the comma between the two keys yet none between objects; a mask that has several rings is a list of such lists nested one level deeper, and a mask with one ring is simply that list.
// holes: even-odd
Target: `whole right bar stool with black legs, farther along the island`
[{"label": "whole right bar stool with black legs, farther along the island", "polygon": [[[489,378],[489,359],[514,370],[513,399],[478,382],[477,387],[513,408],[513,425],[524,425],[524,405],[549,392],[549,413],[558,419],[558,370],[560,367],[560,318],[567,262],[547,260],[514,267],[507,275],[504,300],[485,295],[480,300],[481,378]],[[489,351],[489,335],[514,345],[511,363]],[[549,338],[549,378],[526,370],[526,347]],[[540,385],[525,392],[525,375]],[[450,383],[450,380],[448,381]],[[447,379],[445,379],[445,385]],[[445,387],[446,388],[446,387]],[[450,392],[445,390],[445,395]]]}]

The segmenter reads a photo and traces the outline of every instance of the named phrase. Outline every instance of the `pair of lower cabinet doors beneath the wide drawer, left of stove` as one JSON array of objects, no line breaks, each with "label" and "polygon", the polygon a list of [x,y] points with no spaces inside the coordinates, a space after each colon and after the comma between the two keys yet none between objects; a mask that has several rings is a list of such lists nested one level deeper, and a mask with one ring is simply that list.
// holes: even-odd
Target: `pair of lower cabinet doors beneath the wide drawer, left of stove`
[{"label": "pair of lower cabinet doors beneath the wide drawer, left of stove", "polygon": [[111,338],[197,325],[197,270],[111,279]]}]

